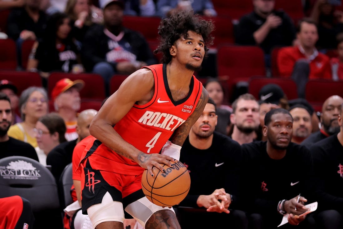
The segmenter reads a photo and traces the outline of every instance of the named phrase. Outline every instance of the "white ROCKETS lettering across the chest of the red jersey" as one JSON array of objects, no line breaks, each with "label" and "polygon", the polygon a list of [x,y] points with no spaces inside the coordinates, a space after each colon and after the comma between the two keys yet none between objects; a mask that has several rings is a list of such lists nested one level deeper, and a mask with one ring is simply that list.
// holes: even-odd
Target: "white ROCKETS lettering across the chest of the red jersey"
[{"label": "white ROCKETS lettering across the chest of the red jersey", "polygon": [[185,121],[176,115],[153,111],[146,111],[138,120],[139,123],[144,125],[159,127],[170,131],[174,131]]}]

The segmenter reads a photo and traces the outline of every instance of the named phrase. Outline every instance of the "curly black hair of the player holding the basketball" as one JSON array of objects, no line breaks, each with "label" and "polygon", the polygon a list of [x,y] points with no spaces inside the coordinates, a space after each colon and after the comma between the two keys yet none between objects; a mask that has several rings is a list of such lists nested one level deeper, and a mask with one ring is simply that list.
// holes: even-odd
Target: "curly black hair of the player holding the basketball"
[{"label": "curly black hair of the player holding the basketball", "polygon": [[200,34],[204,39],[205,53],[209,50],[208,46],[213,44],[211,32],[214,30],[214,24],[211,20],[207,21],[193,10],[180,11],[169,18],[161,20],[158,26],[160,44],[154,50],[154,53],[162,53],[161,62],[168,64],[171,61],[169,49],[181,37],[187,37],[188,31]]}]

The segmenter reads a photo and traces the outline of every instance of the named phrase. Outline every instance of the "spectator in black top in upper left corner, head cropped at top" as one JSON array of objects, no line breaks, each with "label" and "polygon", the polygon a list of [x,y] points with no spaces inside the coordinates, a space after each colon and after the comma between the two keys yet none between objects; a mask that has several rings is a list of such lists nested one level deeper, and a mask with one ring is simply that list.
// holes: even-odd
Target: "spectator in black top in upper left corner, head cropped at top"
[{"label": "spectator in black top in upper left corner, head cropped at top", "polygon": [[21,68],[21,46],[25,40],[39,41],[46,28],[47,16],[39,10],[41,0],[24,0],[23,7],[13,9],[7,19],[7,35],[16,41],[17,62]]}]

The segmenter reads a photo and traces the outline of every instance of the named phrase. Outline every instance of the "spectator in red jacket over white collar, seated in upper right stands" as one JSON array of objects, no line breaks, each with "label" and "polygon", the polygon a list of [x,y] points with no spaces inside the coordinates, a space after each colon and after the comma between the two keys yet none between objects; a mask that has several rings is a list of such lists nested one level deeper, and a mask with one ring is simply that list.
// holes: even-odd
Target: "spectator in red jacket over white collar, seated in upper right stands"
[{"label": "spectator in red jacket over white collar, seated in upper right stands", "polygon": [[280,76],[291,77],[297,84],[299,98],[305,98],[308,79],[332,79],[329,57],[316,49],[318,30],[310,19],[299,21],[298,46],[284,47],[277,55]]}]

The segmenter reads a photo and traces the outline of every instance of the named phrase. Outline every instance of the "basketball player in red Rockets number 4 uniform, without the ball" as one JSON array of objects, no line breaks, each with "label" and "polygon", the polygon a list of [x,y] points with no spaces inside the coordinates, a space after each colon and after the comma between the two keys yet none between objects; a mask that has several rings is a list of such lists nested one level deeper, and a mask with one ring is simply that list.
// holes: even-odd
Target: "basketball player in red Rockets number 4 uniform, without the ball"
[{"label": "basketball player in red Rockets number 4 uniform, without the ball", "polygon": [[90,133],[97,140],[80,163],[82,209],[93,228],[123,228],[127,213],[145,228],[180,228],[173,208],[144,196],[141,176],[145,169],[153,176],[153,167],[164,171],[159,163],[173,167],[208,101],[193,72],[212,43],[212,30],[212,22],[192,11],[163,19],[156,49],[163,64],[132,73],[94,117]]}]

